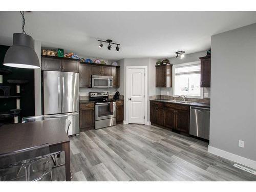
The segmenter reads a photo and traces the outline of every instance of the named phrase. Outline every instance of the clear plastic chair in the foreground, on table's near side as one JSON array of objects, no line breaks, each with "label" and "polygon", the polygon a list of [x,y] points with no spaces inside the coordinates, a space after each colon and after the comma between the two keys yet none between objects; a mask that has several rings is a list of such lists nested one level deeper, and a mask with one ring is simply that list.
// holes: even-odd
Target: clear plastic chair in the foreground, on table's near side
[{"label": "clear plastic chair in the foreground, on table's near side", "polygon": [[48,174],[52,181],[49,144],[2,154],[0,165],[0,181],[39,181]]}]

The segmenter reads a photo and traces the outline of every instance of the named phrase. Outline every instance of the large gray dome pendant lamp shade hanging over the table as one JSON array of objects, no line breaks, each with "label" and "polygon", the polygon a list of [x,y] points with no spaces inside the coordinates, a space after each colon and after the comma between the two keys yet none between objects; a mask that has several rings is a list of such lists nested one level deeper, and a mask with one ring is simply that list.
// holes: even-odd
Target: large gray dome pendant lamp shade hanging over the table
[{"label": "large gray dome pendant lamp shade hanging over the table", "polygon": [[13,45],[5,54],[4,66],[27,69],[40,68],[31,36],[24,33],[13,33]]}]

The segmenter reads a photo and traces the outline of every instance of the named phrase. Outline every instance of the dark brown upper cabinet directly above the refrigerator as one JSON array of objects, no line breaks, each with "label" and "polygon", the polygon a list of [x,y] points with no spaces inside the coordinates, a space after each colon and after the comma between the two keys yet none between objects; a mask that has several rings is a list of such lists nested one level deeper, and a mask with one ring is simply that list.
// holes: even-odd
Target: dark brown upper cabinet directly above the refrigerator
[{"label": "dark brown upper cabinet directly above the refrigerator", "polygon": [[62,57],[41,57],[41,70],[79,72],[79,61]]}]

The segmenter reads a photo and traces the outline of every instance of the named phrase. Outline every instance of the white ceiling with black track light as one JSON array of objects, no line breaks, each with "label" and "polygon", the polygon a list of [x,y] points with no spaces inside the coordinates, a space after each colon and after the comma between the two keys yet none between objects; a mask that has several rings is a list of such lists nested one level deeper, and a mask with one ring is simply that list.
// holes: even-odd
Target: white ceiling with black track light
[{"label": "white ceiling with black track light", "polygon": [[[106,59],[167,58],[184,50],[210,48],[210,36],[256,23],[256,12],[108,12],[32,11],[25,13],[25,31],[43,47],[62,48],[80,56]],[[21,32],[20,13],[0,12],[0,44],[12,45]],[[120,51],[99,49],[97,39],[113,39]]]}]

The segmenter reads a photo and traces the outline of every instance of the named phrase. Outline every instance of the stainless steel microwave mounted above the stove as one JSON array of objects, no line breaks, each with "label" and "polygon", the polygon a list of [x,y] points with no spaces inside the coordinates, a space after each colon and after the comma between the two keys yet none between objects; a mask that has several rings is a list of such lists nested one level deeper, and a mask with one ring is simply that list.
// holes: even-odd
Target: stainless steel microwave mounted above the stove
[{"label": "stainless steel microwave mounted above the stove", "polygon": [[92,75],[92,88],[113,88],[113,77]]}]

